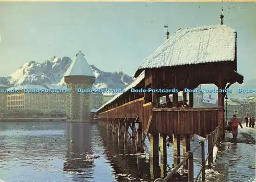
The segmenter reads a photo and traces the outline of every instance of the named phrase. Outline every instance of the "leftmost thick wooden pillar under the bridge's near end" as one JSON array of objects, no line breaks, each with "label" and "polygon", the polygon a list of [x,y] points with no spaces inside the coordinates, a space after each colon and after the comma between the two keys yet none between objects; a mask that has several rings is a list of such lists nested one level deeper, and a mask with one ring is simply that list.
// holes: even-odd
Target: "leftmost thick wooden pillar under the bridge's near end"
[{"label": "leftmost thick wooden pillar under the bridge's near end", "polygon": [[150,174],[151,178],[159,177],[159,134],[151,134],[150,138]]}]

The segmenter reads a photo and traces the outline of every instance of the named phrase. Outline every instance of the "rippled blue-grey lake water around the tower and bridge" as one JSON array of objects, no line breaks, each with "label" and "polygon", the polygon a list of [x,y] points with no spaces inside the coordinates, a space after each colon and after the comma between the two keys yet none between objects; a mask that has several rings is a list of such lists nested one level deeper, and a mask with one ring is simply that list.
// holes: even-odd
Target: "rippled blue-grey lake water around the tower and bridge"
[{"label": "rippled blue-grey lake water around the tower and bridge", "polygon": [[[122,139],[113,138],[105,128],[97,124],[0,123],[0,179],[7,182],[153,181],[156,176],[152,173],[148,159],[150,145],[147,140],[145,143],[145,155],[138,155],[132,139],[124,145]],[[191,148],[193,149],[197,144],[196,137],[195,141],[191,142]],[[218,172],[209,173],[208,181],[244,181],[246,175],[249,178],[253,176],[253,172],[255,174],[255,170],[243,169],[236,165],[236,161],[241,163],[241,158],[245,156],[248,160],[244,161],[242,166],[255,165],[255,146],[243,153],[241,151],[241,148],[245,147],[243,145],[228,146],[229,151],[227,144],[220,147],[222,163],[214,166],[214,170]],[[253,149],[254,152],[250,153]],[[207,143],[205,151],[207,151]],[[230,159],[226,157],[227,152]],[[87,161],[86,153],[98,154],[100,158],[93,162]],[[194,155],[195,176],[199,171],[200,153],[201,151],[198,150]],[[173,165],[172,143],[167,147],[167,158],[164,171],[170,171]],[[227,162],[230,160],[234,161],[234,164]],[[158,171],[160,167],[156,164],[154,169]],[[244,175],[236,175],[237,170],[240,171],[239,174]],[[160,171],[157,174],[160,175]],[[236,180],[233,180],[234,176]],[[182,181],[182,177],[177,177],[175,181]]]}]

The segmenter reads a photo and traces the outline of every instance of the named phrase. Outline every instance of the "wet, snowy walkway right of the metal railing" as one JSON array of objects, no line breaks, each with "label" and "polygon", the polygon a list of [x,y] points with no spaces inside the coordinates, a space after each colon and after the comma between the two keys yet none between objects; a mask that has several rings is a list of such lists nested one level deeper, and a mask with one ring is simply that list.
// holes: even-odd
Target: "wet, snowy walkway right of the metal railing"
[{"label": "wet, snowy walkway right of the metal railing", "polygon": [[219,147],[216,164],[207,173],[207,181],[252,182],[255,179],[256,128],[243,124],[234,142],[231,133],[225,134],[225,142]]}]

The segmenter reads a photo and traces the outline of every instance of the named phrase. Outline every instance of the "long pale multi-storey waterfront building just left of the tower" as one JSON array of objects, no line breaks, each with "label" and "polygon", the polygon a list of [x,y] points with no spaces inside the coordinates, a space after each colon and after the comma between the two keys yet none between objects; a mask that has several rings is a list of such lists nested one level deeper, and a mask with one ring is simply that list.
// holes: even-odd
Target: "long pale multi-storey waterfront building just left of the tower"
[{"label": "long pale multi-storey waterfront building just left of the tower", "polygon": [[17,93],[7,93],[7,111],[26,111],[34,114],[65,114],[66,93],[24,93],[24,89],[67,89],[65,86],[24,85],[14,86],[8,90],[18,90]]}]

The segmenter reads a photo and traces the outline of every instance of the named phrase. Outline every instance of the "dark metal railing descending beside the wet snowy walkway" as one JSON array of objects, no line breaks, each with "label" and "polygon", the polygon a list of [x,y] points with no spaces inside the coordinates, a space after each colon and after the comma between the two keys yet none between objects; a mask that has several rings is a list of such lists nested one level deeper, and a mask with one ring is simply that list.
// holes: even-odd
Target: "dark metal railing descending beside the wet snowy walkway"
[{"label": "dark metal railing descending beside the wet snowy walkway", "polygon": [[[188,182],[197,182],[197,181],[205,181],[205,166],[206,163],[208,162],[208,169],[211,168],[211,163],[213,163],[213,150],[214,146],[220,145],[221,142],[221,127],[220,125],[216,127],[215,131],[211,132],[209,135],[206,136],[204,140],[199,141],[199,144],[194,150],[188,151],[186,153],[186,157],[180,162],[178,166],[176,166],[171,173],[169,173],[165,178],[158,178],[154,182],[159,182],[159,181],[168,181],[176,172],[177,170],[188,161]],[[205,147],[204,143],[205,141],[208,140],[208,154],[207,158],[205,159]],[[193,153],[201,146],[201,169],[197,175],[197,177],[194,180],[194,157]],[[199,179],[201,175],[201,180]]]}]

